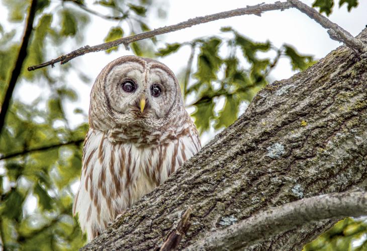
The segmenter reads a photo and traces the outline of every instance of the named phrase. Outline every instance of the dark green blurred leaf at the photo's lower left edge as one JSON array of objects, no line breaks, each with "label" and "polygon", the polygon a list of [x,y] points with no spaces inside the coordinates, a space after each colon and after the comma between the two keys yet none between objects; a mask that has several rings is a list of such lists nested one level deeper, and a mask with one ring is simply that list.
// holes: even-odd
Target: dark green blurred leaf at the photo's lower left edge
[{"label": "dark green blurred leaf at the photo's lower left edge", "polygon": [[24,199],[25,196],[17,189],[13,188],[7,196],[4,206],[0,207],[2,217],[7,217],[9,219],[20,221],[23,214],[22,209]]}]

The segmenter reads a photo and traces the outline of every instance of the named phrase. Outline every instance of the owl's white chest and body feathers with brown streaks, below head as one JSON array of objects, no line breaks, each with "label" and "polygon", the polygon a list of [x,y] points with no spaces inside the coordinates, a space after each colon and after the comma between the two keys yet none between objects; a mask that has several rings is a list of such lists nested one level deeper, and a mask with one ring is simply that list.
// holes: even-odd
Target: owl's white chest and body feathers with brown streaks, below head
[{"label": "owl's white chest and body feathers with brown streaks, below head", "polygon": [[73,205],[88,240],[199,151],[200,142],[191,137],[193,133],[164,145],[137,147],[113,143],[103,132],[89,129]]}]

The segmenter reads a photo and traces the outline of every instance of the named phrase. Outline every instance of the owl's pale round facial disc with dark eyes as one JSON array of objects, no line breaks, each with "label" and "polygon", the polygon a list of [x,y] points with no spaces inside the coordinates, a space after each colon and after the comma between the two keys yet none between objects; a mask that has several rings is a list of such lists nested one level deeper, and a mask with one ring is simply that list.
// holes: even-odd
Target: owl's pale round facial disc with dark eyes
[{"label": "owl's pale round facial disc with dark eyes", "polygon": [[175,86],[174,79],[159,67],[145,68],[141,63],[126,62],[116,65],[107,75],[105,95],[118,113],[160,119],[172,108],[177,94]]}]

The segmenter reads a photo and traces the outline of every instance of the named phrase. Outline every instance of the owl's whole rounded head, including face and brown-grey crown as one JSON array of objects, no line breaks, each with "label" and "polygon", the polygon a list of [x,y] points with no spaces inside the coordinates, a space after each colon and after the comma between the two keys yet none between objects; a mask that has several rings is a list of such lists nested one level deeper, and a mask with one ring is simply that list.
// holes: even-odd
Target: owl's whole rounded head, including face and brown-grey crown
[{"label": "owl's whole rounded head, including face and brown-grey crown", "polygon": [[178,81],[164,64],[123,56],[98,75],[90,93],[89,123],[108,131],[115,127],[159,129],[180,115]]}]

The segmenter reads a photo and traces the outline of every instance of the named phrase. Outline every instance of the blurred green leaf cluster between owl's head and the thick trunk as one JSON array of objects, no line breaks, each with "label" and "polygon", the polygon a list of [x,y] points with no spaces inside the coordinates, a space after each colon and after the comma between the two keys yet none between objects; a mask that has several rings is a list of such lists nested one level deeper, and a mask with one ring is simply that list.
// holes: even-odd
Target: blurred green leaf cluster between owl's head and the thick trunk
[{"label": "blurred green leaf cluster between owl's head and the thick trunk", "polygon": [[[270,41],[254,42],[230,27],[221,29],[231,33],[231,38],[209,37],[191,42],[166,44],[158,49],[157,56],[165,57],[184,46],[191,46],[197,67],[186,69],[187,78],[182,85],[184,96],[195,96],[192,116],[200,133],[208,131],[211,124],[215,129],[230,126],[239,115],[240,104],[250,102],[259,89],[268,83],[268,76],[280,57],[287,57],[293,70],[304,70],[314,63],[313,57],[300,55],[289,45],[276,48]],[[225,47],[225,48],[223,48]],[[221,55],[223,49],[227,55]],[[261,57],[260,53],[273,52],[272,58]],[[193,72],[192,72],[193,71]],[[221,76],[221,77],[219,77]],[[216,109],[224,98],[223,107]]]}]

